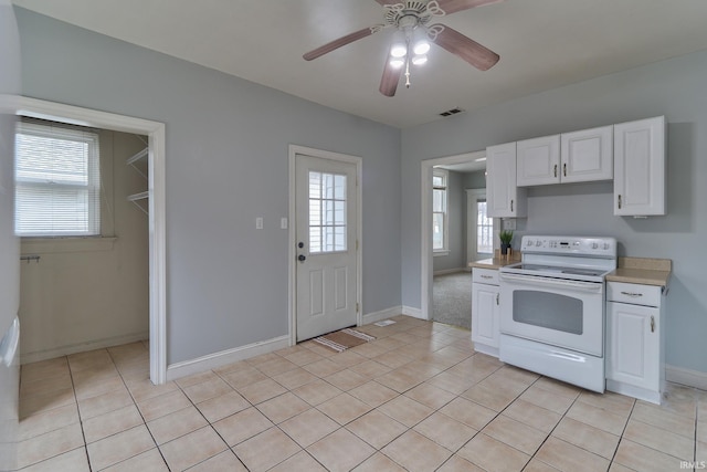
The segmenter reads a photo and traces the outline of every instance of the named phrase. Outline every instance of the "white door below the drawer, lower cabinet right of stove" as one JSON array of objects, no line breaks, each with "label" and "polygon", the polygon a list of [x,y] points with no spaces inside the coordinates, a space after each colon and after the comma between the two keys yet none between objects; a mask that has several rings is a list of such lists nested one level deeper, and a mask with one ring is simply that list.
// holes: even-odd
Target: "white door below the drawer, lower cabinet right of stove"
[{"label": "white door below the drawer, lower cabinet right of stove", "polygon": [[659,310],[616,302],[609,302],[606,306],[606,378],[657,391]]}]

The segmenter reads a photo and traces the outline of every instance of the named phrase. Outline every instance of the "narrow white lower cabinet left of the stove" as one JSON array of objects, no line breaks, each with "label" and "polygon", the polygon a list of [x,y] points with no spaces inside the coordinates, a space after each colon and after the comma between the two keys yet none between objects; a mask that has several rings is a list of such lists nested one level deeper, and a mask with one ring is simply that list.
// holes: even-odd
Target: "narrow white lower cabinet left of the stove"
[{"label": "narrow white lower cabinet left of the stove", "polygon": [[472,342],[474,349],[498,357],[500,291],[498,271],[472,270]]}]

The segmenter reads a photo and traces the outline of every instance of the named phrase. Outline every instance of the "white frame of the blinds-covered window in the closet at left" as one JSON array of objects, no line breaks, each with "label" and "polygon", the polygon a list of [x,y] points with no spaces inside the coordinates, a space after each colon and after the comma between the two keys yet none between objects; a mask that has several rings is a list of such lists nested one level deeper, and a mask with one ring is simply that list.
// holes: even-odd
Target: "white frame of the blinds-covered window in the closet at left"
[{"label": "white frame of the blinds-covered window in the closet at left", "polygon": [[[15,155],[14,164],[14,185],[15,185],[15,235],[25,240],[56,240],[71,238],[101,238],[102,237],[102,176],[101,176],[101,137],[99,132],[94,128],[74,126],[61,122],[41,120],[34,118],[24,118],[18,120],[15,129],[15,141],[20,139],[20,135],[33,136],[38,138],[50,138],[64,140],[70,143],[84,143],[86,147],[86,165],[85,165],[85,183],[61,182],[51,179],[33,179],[31,177],[20,177],[20,157]],[[19,143],[15,145],[15,153],[20,149]],[[49,162],[46,159],[45,162]],[[43,180],[43,181],[42,181]],[[44,228],[19,228],[19,192],[22,189],[36,189],[35,191],[44,191],[51,195],[57,189],[80,190],[86,193],[86,208],[81,214],[85,216],[85,229],[60,229],[52,230]],[[30,190],[31,192],[31,190]]]}]

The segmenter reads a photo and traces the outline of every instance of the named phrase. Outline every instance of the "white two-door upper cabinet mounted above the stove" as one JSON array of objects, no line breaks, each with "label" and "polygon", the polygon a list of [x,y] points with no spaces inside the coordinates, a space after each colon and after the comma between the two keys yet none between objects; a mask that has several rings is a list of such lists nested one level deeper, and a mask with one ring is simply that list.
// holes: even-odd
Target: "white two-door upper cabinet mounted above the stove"
[{"label": "white two-door upper cabinet mounted above the stove", "polygon": [[518,141],[518,187],[611,180],[612,138],[603,126]]}]

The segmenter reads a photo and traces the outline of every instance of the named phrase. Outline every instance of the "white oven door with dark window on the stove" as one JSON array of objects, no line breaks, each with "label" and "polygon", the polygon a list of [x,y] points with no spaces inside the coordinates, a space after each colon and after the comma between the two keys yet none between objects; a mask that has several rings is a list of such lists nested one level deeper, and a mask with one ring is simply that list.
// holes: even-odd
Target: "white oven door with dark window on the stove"
[{"label": "white oven door with dark window on the stove", "polygon": [[500,332],[602,357],[604,283],[500,273]]}]

